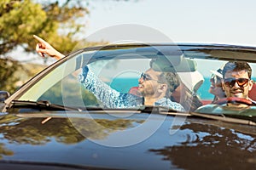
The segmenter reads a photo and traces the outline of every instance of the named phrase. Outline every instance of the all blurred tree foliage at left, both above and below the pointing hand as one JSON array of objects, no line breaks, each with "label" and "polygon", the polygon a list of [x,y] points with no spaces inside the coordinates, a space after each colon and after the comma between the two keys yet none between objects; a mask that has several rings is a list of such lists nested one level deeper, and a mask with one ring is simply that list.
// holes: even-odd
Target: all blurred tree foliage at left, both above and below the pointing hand
[{"label": "all blurred tree foliage at left, both above and below the pointing hand", "polygon": [[[108,0],[122,2],[122,0]],[[123,0],[125,2],[127,0]],[[68,54],[81,46],[94,46],[106,42],[87,42],[81,38],[86,28],[83,17],[90,13],[90,1],[76,0],[1,0],[0,1],[0,90],[13,93],[17,86],[18,68],[27,71],[27,77],[34,76],[32,70],[20,65],[19,56],[7,53],[22,47],[28,53],[35,53],[37,41],[32,35],[43,37],[62,54]],[[12,58],[12,59],[10,59]],[[44,60],[44,62],[47,62]],[[20,73],[19,73],[20,74]]]}]

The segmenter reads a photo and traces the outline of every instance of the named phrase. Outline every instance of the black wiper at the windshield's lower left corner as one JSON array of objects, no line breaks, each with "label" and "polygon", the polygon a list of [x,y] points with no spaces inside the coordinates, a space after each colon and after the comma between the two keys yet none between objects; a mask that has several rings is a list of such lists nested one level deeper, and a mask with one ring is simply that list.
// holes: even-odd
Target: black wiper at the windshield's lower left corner
[{"label": "black wiper at the windshield's lower left corner", "polygon": [[67,107],[64,105],[51,104],[47,100],[40,101],[29,101],[29,100],[13,100],[9,108],[27,108],[36,110],[46,110],[46,111],[80,111],[76,107]]}]

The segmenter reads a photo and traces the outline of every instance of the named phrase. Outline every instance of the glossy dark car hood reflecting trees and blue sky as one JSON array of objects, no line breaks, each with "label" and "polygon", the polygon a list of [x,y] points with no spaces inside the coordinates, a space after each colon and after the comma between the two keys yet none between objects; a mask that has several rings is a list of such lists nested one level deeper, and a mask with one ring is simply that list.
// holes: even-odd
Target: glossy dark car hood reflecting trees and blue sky
[{"label": "glossy dark car hood reflecting trees and blue sky", "polygon": [[7,114],[1,116],[0,133],[0,163],[4,165],[71,169],[256,167],[255,127],[193,117]]}]

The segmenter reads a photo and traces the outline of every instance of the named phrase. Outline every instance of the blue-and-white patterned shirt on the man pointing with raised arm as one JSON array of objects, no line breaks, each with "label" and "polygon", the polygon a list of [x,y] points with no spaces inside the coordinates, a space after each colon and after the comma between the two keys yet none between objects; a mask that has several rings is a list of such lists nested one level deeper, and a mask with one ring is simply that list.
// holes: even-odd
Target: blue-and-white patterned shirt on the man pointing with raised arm
[{"label": "blue-and-white patterned shirt on the man pointing with raised arm", "polygon": [[[84,66],[83,71],[79,74],[79,82],[108,108],[131,108],[143,105],[142,97],[120,93],[110,88],[108,84],[96,77],[87,66]],[[182,105],[173,102],[171,99],[159,99],[154,105],[165,106],[176,111],[184,111]]]}]

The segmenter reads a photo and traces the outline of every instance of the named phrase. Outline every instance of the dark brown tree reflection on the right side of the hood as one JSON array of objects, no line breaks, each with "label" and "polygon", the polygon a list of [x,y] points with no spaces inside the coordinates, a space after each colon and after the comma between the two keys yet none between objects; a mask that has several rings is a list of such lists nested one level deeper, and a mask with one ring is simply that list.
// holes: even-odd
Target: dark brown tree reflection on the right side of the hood
[{"label": "dark brown tree reflection on the right side of the hood", "polygon": [[[178,169],[255,169],[255,128],[230,122],[212,122],[184,123],[179,131],[183,131],[186,140],[148,151],[161,156],[162,160],[170,161]],[[189,133],[185,135],[188,130]],[[239,157],[239,161],[236,157]]]}]

